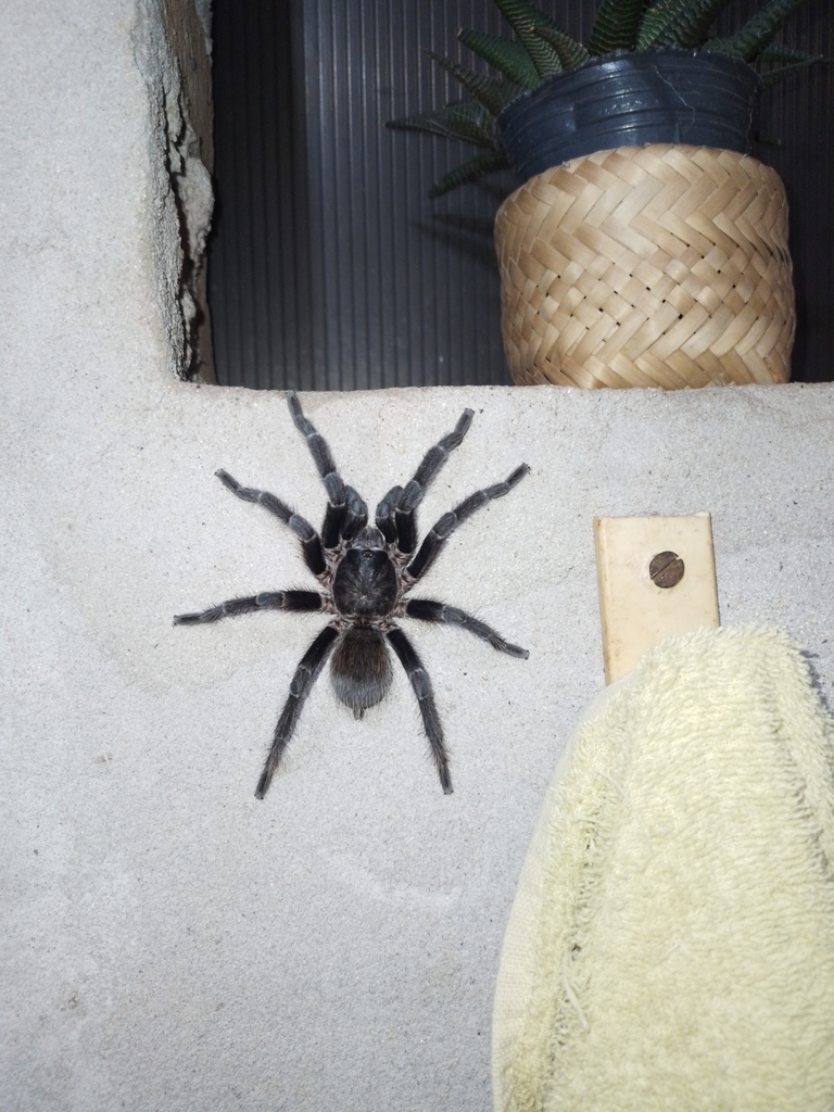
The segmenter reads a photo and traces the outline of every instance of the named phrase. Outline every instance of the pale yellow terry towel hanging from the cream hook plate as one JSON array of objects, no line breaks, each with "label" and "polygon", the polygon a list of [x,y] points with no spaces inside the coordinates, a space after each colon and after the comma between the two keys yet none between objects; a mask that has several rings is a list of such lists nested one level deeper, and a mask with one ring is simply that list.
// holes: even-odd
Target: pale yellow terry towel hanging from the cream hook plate
[{"label": "pale yellow terry towel hanging from the cream hook plate", "polygon": [[772,629],[596,701],[504,940],[497,1112],[832,1112],[834,721]]}]

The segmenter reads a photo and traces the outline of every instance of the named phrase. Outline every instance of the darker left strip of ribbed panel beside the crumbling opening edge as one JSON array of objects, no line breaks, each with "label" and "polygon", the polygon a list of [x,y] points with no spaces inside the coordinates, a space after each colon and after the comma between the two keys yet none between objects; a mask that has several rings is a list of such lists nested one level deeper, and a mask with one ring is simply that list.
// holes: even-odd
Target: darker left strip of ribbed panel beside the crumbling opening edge
[{"label": "darker left strip of ribbed panel beside the crumbling opening edge", "polygon": [[281,386],[278,368],[310,366],[312,335],[304,90],[292,79],[302,59],[294,64],[290,3],[222,0],[212,34],[216,369],[227,385]]}]

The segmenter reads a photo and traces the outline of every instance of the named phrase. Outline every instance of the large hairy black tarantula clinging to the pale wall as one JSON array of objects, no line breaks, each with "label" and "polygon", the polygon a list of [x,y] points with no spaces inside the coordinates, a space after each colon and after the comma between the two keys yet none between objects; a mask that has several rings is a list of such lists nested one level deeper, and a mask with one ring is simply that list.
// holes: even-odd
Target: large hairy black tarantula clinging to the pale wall
[{"label": "large hairy black tarantula clinging to the pale wall", "polygon": [[[405,487],[395,486],[377,506],[376,525],[368,525],[368,507],[336,470],[330,449],[301,411],[296,395],[287,393],[289,411],[296,428],[307,438],[312,458],[327,490],[327,510],[317,533],[309,522],[267,490],[242,487],[227,471],[219,470],[220,481],[244,502],[260,503],[295,533],[308,568],[320,584],[318,590],[275,590],[249,598],[231,598],[200,614],[178,614],[175,625],[200,625],[252,610],[307,610],[330,615],[296,668],[272,746],[255,792],[262,800],[298,723],[305,699],[328,656],[332,654],[330,676],[334,691],[357,718],[376,706],[390,686],[393,672],[388,645],[399,657],[417,696],[431,756],[446,793],[451,792],[449,763],[443,727],[435,706],[431,681],[411,642],[395,618],[456,625],[488,641],[493,648],[510,656],[529,654],[510,645],[485,622],[455,606],[429,598],[407,598],[411,587],[428,572],[455,529],[493,498],[500,498],[524,478],[526,464],[495,486],[478,490],[444,514],[417,548],[417,507],[471,425],[473,410],[465,409],[448,436],[429,448],[414,478]],[[415,554],[415,548],[417,552]]]}]

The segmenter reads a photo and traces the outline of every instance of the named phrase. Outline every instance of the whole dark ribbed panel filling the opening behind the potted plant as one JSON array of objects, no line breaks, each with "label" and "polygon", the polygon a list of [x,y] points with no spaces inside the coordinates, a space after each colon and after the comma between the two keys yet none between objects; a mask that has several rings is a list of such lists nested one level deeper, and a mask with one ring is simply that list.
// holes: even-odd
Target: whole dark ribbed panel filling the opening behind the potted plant
[{"label": "whole dark ribbed panel filling the opening behind the potted plant", "polygon": [[[587,40],[596,0],[543,6]],[[742,0],[731,14],[738,22],[755,7]],[[423,51],[470,64],[460,27],[506,33],[492,0],[215,0],[214,10],[218,379],[508,381],[492,226],[512,179],[429,201],[431,182],[473,148],[384,128],[459,97]],[[783,39],[834,53],[830,0],[808,0]],[[756,151],[791,195],[804,378],[831,377],[834,339],[831,69],[770,95],[762,127],[785,146]]]}]

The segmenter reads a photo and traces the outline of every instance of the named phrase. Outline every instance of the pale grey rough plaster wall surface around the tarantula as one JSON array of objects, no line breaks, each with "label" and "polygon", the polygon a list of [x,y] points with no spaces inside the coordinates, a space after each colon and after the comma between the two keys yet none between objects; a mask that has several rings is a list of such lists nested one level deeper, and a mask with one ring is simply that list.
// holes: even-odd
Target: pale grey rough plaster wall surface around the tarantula
[{"label": "pale grey rough plaster wall surface around the tarantula", "polygon": [[454,795],[398,672],[361,722],[322,676],[257,801],[321,618],[171,616],[315,585],[216,468],[316,523],[321,484],[282,395],[176,378],[158,9],[3,24],[0,1108],[486,1112],[516,877],[603,685],[592,519],[709,510],[723,623],[784,628],[831,695],[834,388],[305,396],[371,504],[475,409],[424,526],[530,465],[415,589],[530,655],[409,624]]}]

